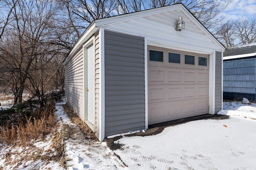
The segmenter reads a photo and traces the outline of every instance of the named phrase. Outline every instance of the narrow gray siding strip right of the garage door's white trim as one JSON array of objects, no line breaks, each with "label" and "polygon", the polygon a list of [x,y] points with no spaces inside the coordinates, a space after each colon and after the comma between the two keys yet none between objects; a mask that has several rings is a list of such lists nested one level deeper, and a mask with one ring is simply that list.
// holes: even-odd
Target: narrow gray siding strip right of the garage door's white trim
[{"label": "narrow gray siding strip right of the garage door's white trim", "polygon": [[216,51],[215,57],[215,113],[217,113],[222,105],[222,52]]}]

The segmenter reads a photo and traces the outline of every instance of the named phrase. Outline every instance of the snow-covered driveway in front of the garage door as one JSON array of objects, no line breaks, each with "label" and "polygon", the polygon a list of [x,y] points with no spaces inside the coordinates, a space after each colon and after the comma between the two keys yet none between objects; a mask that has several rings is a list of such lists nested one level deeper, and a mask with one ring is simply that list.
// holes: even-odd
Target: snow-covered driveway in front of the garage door
[{"label": "snow-covered driveway in front of the garage door", "polygon": [[224,102],[229,119],[208,119],[167,127],[155,136],[124,137],[116,154],[128,169],[256,168],[255,103]]}]

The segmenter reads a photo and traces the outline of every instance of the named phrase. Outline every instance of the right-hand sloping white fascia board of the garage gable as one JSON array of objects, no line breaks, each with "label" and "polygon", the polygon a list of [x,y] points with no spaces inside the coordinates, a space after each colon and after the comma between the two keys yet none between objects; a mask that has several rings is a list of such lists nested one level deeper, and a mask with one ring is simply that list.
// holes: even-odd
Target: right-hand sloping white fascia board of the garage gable
[{"label": "right-hand sloping white fascia board of the garage gable", "polygon": [[[204,34],[220,49],[220,51],[225,51],[225,47],[207,30],[188,10],[181,6],[180,9]],[[186,25],[186,24],[185,24]]]}]

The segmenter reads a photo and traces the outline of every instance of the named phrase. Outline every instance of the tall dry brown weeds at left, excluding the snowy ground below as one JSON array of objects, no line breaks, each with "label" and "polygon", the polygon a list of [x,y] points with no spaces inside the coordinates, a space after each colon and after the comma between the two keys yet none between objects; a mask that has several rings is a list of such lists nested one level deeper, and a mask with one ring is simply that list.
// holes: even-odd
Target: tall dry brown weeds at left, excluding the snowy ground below
[{"label": "tall dry brown weeds at left, excluding the snowy ground below", "polygon": [[52,132],[57,123],[55,101],[48,100],[45,108],[38,107],[32,111],[30,118],[21,120],[18,126],[6,124],[0,127],[0,143],[8,145],[31,145],[35,140],[44,138]]}]

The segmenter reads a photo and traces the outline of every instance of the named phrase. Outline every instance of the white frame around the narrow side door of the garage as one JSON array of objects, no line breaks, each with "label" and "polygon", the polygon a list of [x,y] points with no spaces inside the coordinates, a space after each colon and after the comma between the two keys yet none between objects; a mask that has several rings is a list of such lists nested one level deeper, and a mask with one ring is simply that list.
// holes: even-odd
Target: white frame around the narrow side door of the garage
[{"label": "white frame around the narrow side door of the garage", "polygon": [[[92,38],[90,38],[86,43],[84,43],[83,45],[83,71],[84,71],[84,87],[83,87],[83,91],[84,91],[84,122],[93,130],[95,131],[95,97],[93,97],[93,123],[91,123],[90,121],[88,121],[88,96],[87,96],[87,87],[88,87],[88,82],[87,82],[87,48],[90,47],[92,45],[93,47],[93,63],[91,63],[93,65],[93,79],[95,80],[95,47],[94,47],[94,41],[95,38],[94,36]],[[93,94],[95,94],[95,82],[93,81]]]}]

